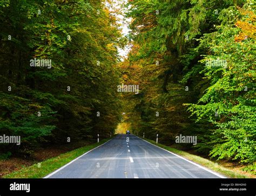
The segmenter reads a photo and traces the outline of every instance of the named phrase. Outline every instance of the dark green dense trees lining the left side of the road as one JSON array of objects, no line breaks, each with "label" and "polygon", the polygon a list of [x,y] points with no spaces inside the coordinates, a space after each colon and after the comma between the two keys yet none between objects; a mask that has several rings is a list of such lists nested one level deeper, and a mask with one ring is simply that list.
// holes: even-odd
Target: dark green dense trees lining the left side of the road
[{"label": "dark green dense trees lining the left side of the road", "polygon": [[[120,119],[118,24],[100,1],[1,1],[0,135],[36,144],[109,137]],[[31,59],[51,60],[32,67]],[[39,113],[38,113],[39,112]],[[99,113],[98,113],[99,112]]]}]

